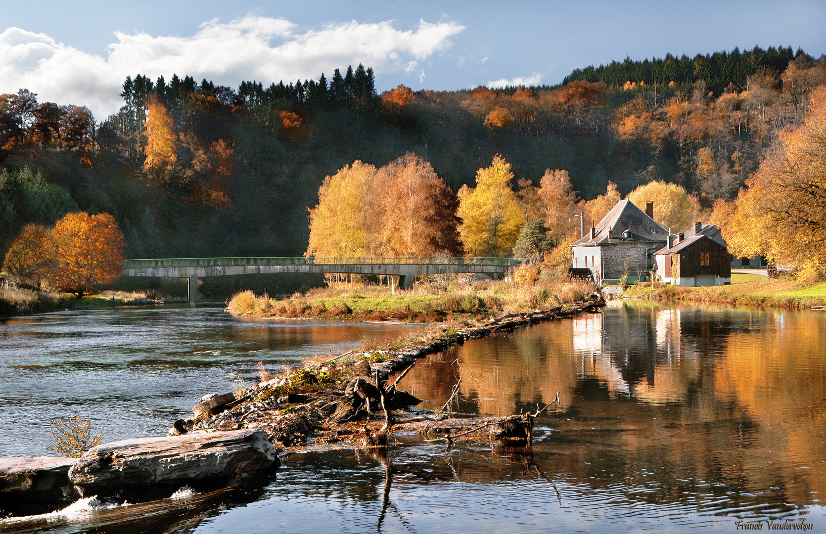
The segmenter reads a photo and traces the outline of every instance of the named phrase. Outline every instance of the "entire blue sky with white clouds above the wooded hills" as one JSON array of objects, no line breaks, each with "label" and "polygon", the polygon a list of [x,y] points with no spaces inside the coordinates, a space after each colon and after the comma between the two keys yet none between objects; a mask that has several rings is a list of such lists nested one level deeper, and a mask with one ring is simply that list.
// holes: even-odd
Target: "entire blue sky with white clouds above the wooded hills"
[{"label": "entire blue sky with white clouds above the wooded hills", "polygon": [[372,66],[379,92],[554,85],[611,60],[791,45],[826,54],[826,0],[0,0],[0,93],[121,106],[126,75],[238,87]]}]

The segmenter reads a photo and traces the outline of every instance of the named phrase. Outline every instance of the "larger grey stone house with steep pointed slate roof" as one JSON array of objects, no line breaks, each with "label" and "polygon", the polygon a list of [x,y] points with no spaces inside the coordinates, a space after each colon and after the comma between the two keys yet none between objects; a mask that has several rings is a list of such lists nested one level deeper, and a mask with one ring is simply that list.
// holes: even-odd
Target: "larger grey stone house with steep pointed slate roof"
[{"label": "larger grey stone house with steep pointed slate roof", "polygon": [[629,281],[644,280],[654,267],[653,253],[668,239],[668,230],[657,224],[653,215],[653,202],[643,211],[625,200],[587,234],[582,221],[582,238],[571,244],[572,267],[591,269],[598,284],[619,281],[624,275]]}]

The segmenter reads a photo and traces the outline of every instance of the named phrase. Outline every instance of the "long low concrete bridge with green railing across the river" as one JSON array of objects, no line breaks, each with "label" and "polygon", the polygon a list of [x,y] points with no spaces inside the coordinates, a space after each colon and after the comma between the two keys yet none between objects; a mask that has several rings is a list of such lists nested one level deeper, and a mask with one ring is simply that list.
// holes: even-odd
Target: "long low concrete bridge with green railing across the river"
[{"label": "long low concrete bridge with green railing across the river", "polygon": [[527,259],[521,258],[156,258],[123,261],[123,276],[188,278],[189,305],[197,304],[197,281],[205,276],[275,274],[285,272],[338,272],[399,276],[399,287],[413,286],[413,276],[434,274],[505,273]]}]

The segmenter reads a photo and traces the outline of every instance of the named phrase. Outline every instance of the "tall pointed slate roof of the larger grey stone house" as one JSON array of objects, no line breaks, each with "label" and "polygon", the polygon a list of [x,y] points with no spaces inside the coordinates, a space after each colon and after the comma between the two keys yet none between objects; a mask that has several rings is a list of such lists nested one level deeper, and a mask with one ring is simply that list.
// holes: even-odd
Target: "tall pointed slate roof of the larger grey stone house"
[{"label": "tall pointed slate roof of the larger grey stone house", "polygon": [[[631,230],[631,237],[624,238],[625,230]],[[585,237],[574,241],[572,247],[601,247],[624,243],[665,243],[668,230],[645,215],[634,203],[619,201],[617,205],[596,225],[596,236],[591,239],[591,229],[586,229]]]}]

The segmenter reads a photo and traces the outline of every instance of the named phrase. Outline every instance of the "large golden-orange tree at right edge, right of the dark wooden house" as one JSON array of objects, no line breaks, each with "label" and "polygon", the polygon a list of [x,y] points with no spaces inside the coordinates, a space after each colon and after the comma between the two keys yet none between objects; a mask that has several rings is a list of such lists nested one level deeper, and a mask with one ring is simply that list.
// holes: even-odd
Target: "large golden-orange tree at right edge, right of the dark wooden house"
[{"label": "large golden-orange tree at right edge, right of the dark wooden house", "polygon": [[812,92],[803,124],[776,139],[746,185],[733,206],[714,205],[729,252],[826,266],[826,87]]}]

